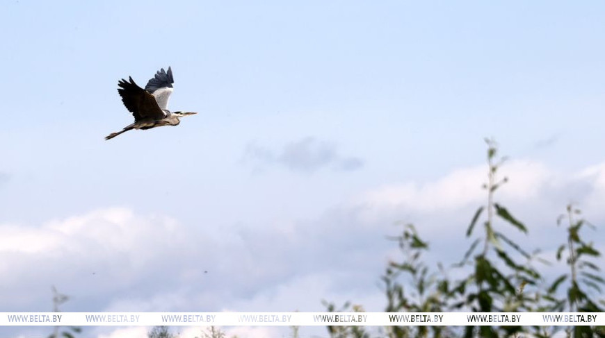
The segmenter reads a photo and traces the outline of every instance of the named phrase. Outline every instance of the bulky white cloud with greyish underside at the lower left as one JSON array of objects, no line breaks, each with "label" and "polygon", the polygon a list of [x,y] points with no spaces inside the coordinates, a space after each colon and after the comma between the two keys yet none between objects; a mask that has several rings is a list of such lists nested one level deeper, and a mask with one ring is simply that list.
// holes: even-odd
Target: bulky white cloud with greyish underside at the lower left
[{"label": "bulky white cloud with greyish underside at the lower left", "polygon": [[[38,227],[4,224],[0,233],[0,274],[6,285],[0,307],[12,311],[40,311],[43,299],[50,307],[51,285],[74,296],[79,310],[104,310],[112,300],[104,295],[131,287],[144,293],[153,282],[178,284],[181,269],[172,269],[171,262],[197,248],[174,219],[141,217],[126,208],[95,210]],[[200,242],[211,250],[211,240]],[[147,280],[150,275],[153,281]],[[87,302],[91,290],[98,298]]]}]

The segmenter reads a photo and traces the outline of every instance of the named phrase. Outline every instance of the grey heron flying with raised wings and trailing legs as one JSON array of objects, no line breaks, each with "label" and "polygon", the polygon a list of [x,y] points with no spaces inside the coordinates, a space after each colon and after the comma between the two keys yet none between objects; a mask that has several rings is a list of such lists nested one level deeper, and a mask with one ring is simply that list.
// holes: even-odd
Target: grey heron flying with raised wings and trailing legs
[{"label": "grey heron flying with raised wings and trailing legs", "polygon": [[163,68],[147,82],[145,89],[139,87],[132,77],[129,81],[122,78],[118,82],[118,93],[122,96],[122,102],[129,112],[134,116],[134,123],[125,126],[122,130],[111,133],[105,140],[113,139],[132,129],[151,129],[161,126],[177,126],[181,121],[179,117],[197,114],[197,112],[170,112],[168,99],[172,94],[172,69],[168,71]]}]

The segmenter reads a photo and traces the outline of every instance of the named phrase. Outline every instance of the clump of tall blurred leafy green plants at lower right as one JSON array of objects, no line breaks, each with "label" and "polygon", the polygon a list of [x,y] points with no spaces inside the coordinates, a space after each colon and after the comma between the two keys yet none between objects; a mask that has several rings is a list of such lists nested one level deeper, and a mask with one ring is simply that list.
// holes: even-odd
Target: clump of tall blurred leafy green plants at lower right
[{"label": "clump of tall blurred leafy green plants at lower right", "polygon": [[[442,264],[435,270],[423,259],[429,244],[411,224],[403,227],[401,235],[391,237],[398,242],[403,259],[389,262],[381,277],[387,296],[386,312],[602,312],[605,301],[593,301],[601,293],[605,280],[593,262],[600,256],[592,243],[585,242],[580,230],[592,226],[584,219],[576,219],[581,212],[571,205],[567,214],[559,217],[558,224],[567,219],[567,243],[561,245],[556,259],[567,252],[566,264],[570,273],[548,282],[533,267],[533,262],[549,264],[534,250],[529,253],[501,230],[508,225],[522,234],[529,230],[522,221],[497,201],[496,192],[508,178],[499,178],[499,169],[506,158],[499,158],[498,146],[493,140],[487,143],[487,192],[485,205],[481,205],[466,230],[466,237],[477,233],[476,226],[483,220],[480,236],[474,239],[462,260],[449,269],[462,269],[466,276],[458,280],[449,278]],[[483,218],[482,218],[483,217]],[[510,229],[510,228],[508,228]],[[481,250],[479,249],[481,248]],[[437,272],[438,271],[438,272]],[[569,281],[566,297],[558,289]],[[333,304],[325,303],[328,311],[336,311]],[[344,310],[348,307],[345,305]],[[391,326],[385,328],[387,336],[400,337],[551,337],[557,328],[521,326]],[[357,337],[347,329],[328,326],[330,337]],[[365,331],[362,331],[365,332]],[[574,326],[567,328],[569,337],[605,337],[602,327]],[[363,336],[367,337],[367,336]]]}]

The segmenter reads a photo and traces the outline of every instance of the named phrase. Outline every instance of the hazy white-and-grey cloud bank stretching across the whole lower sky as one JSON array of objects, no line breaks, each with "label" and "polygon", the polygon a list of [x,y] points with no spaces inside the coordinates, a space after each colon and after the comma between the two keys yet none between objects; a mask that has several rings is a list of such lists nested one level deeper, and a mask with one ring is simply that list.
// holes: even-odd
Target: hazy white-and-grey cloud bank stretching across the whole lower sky
[{"label": "hazy white-and-grey cloud bank stretching across the whole lower sky", "polygon": [[[379,276],[388,257],[398,255],[385,239],[398,233],[394,222],[416,224],[430,242],[430,261],[451,263],[455,251],[466,248],[460,244],[467,240],[463,233],[472,212],[485,203],[486,170],[481,165],[430,182],[392,183],[342,205],[326,205],[325,212],[304,220],[247,219],[216,235],[197,224],[127,208],[40,226],[0,224],[3,310],[48,310],[54,284],[72,296],[65,311],[321,311],[322,299],[380,311]],[[549,253],[550,246],[564,242],[565,230],[556,230],[555,220],[570,201],[597,226],[605,221],[605,164],[563,174],[517,160],[505,164],[501,174],[510,183],[497,201],[529,228],[529,235],[518,236],[519,244]],[[602,231],[599,227],[595,238]],[[95,332],[112,338],[145,333]],[[196,332],[186,329],[181,337]]]}]

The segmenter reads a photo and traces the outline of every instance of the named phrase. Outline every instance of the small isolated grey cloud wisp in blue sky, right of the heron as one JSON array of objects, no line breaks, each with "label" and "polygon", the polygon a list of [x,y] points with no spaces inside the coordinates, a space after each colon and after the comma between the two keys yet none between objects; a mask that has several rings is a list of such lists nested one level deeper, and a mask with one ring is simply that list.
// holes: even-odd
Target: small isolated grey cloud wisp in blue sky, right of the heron
[{"label": "small isolated grey cloud wisp in blue sky, right of the heron", "polygon": [[353,171],[364,162],[354,156],[339,154],[337,146],[330,142],[305,137],[286,144],[280,151],[273,151],[257,144],[248,144],[245,160],[257,166],[280,164],[292,171],[313,172],[324,167],[339,171]]}]

